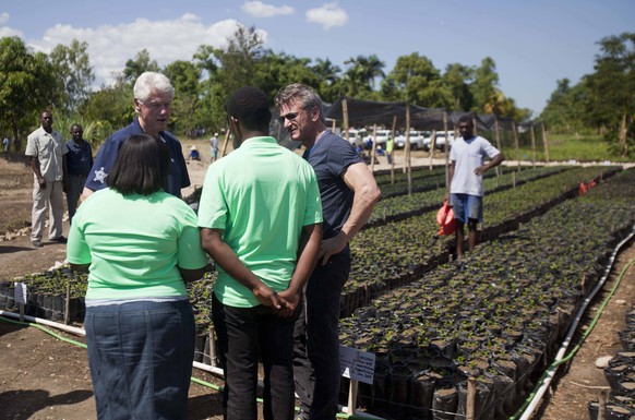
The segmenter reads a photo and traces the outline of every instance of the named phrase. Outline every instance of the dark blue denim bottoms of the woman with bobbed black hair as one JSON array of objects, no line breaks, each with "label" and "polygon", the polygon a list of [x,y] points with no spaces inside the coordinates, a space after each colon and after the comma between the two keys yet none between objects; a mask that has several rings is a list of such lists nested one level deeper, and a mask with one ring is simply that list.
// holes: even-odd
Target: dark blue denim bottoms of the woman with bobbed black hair
[{"label": "dark blue denim bottoms of the woman with bobbed black hair", "polygon": [[97,418],[187,419],[194,315],[187,300],[87,307]]}]

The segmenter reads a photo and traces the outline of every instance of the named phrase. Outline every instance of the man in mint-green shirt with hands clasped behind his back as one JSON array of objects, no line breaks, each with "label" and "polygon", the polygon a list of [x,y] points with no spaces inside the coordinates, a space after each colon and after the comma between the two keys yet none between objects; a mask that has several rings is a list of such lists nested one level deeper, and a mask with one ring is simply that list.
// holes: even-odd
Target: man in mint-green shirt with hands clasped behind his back
[{"label": "man in mint-green shirt with hands clasped behind his back", "polygon": [[218,269],[212,319],[225,371],[224,415],[257,418],[261,359],[264,418],[288,420],[293,325],[322,238],[320,191],[313,168],[268,136],[272,113],[262,91],[239,88],[227,113],[241,144],[209,166],[199,205],[201,242]]}]

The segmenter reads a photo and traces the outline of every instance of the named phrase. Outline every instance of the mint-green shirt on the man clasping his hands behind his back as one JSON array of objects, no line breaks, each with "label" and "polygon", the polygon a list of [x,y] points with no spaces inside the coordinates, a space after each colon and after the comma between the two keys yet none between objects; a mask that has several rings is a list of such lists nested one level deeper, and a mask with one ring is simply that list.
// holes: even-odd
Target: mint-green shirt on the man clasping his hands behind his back
[{"label": "mint-green shirt on the man clasping his hands behind his back", "polygon": [[[276,291],[289,287],[302,227],[322,223],[315,172],[273,137],[251,137],[207,169],[199,226],[223,229],[240,261]],[[221,267],[214,292],[224,304],[260,304]]]}]

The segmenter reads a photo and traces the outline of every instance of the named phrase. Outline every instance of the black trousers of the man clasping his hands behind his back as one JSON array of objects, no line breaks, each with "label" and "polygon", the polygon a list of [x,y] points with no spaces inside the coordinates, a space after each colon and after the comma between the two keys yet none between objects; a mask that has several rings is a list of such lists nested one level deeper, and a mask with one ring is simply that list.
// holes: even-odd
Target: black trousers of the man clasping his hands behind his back
[{"label": "black trousers of the man clasping his hands behind his back", "polygon": [[[298,311],[299,312],[299,311]],[[212,320],[225,371],[223,394],[227,420],[256,420],[259,356],[264,369],[265,420],[293,417],[293,323],[268,307],[228,307],[213,297]]]}]

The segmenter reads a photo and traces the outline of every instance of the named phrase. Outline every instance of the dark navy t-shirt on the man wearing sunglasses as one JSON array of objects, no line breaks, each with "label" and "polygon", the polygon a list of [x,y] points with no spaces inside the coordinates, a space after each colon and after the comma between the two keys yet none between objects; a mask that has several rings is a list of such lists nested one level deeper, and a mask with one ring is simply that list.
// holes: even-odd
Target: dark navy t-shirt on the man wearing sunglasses
[{"label": "dark navy t-shirt on the man wearing sunglasses", "polygon": [[350,215],[354,192],[346,185],[342,175],[357,163],[363,163],[355,148],[339,135],[327,131],[311,149],[304,153],[311,164],[322,199],[323,237],[333,238],[339,233]]}]

